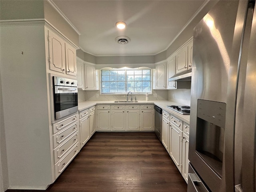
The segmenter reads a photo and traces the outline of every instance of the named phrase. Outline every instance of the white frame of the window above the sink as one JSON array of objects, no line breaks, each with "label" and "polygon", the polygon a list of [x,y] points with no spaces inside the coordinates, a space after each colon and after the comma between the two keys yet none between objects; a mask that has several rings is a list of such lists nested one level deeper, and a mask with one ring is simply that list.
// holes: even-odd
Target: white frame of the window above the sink
[{"label": "white frame of the window above the sink", "polygon": [[[153,80],[153,70],[151,68],[148,67],[139,67],[139,68],[102,68],[100,69],[100,94],[101,95],[126,95],[129,91],[126,90],[126,92],[109,92],[109,93],[103,93],[102,92],[102,70],[150,70],[150,91],[147,92],[148,94],[152,94],[152,89],[153,89],[153,84],[152,84],[152,80]],[[127,79],[125,80],[125,82],[127,82]],[[146,92],[134,92],[131,91],[132,94],[138,94],[138,95],[145,95]]]}]

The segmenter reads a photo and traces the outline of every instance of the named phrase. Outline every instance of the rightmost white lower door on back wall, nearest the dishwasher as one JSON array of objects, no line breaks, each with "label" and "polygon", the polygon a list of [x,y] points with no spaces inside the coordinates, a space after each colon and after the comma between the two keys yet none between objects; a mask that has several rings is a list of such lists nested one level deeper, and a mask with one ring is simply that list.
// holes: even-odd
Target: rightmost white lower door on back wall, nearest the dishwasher
[{"label": "rightmost white lower door on back wall, nearest the dishwasher", "polygon": [[154,110],[140,110],[140,130],[154,130]]}]

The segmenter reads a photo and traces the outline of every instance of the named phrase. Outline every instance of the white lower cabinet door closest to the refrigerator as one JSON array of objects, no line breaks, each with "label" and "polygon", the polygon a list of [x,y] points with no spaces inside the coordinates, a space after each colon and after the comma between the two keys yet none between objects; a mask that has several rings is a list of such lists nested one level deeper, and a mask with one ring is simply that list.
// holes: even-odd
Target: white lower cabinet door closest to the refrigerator
[{"label": "white lower cabinet door closest to the refrigerator", "polygon": [[182,134],[182,169],[181,174],[184,180],[188,183],[188,146],[189,137],[187,134]]}]

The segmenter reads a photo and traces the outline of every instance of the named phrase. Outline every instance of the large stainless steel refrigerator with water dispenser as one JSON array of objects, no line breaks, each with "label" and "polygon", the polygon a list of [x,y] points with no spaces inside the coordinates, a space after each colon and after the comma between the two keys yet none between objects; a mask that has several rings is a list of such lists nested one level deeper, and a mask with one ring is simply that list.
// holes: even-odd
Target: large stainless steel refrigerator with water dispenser
[{"label": "large stainless steel refrigerator with water dispenser", "polygon": [[219,1],[194,28],[188,192],[255,192],[255,1]]}]

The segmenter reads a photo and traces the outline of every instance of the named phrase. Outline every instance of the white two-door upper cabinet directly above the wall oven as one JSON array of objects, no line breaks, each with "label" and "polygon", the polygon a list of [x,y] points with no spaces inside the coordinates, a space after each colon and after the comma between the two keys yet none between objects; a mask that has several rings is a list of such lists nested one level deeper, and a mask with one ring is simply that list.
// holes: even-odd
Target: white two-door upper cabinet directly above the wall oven
[{"label": "white two-door upper cabinet directly above the wall oven", "polygon": [[76,47],[61,36],[48,30],[49,69],[55,72],[76,76]]}]

